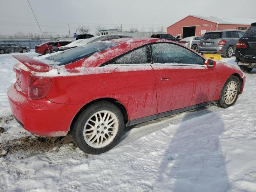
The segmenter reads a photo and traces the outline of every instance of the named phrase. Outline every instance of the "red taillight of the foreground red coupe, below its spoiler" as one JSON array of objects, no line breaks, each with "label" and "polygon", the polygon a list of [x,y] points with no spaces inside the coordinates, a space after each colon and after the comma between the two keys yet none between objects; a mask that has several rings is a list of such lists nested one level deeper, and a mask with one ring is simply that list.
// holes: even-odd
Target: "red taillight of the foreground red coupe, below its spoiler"
[{"label": "red taillight of the foreground red coupe, below its spoiler", "polygon": [[44,98],[51,88],[52,80],[52,77],[28,76],[28,98]]}]

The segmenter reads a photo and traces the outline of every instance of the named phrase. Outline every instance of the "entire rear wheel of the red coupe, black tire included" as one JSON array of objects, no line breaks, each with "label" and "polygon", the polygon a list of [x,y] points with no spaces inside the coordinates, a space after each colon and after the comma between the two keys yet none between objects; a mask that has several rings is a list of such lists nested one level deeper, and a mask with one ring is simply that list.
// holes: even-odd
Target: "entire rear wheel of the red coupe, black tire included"
[{"label": "entire rear wheel of the red coupe, black tire included", "polygon": [[78,116],[70,134],[83,152],[101,154],[116,145],[123,130],[124,117],[120,109],[111,102],[100,101]]}]

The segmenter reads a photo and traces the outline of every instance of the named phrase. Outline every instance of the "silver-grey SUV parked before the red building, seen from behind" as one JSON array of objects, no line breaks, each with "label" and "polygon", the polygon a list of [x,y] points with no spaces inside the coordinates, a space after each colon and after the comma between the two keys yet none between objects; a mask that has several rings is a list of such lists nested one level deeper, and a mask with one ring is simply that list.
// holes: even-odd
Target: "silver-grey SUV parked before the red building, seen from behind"
[{"label": "silver-grey SUV parked before the red building, seen from behind", "polygon": [[231,57],[236,49],[236,43],[243,36],[240,30],[222,30],[206,32],[198,44],[198,52],[202,54],[217,53]]}]

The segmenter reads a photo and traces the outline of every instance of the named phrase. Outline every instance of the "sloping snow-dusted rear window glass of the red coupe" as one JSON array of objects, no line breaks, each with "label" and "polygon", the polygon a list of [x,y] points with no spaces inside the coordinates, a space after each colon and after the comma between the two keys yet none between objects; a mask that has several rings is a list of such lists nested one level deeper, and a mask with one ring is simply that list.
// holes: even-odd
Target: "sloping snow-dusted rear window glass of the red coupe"
[{"label": "sloping snow-dusted rear window glass of the red coupe", "polygon": [[110,49],[116,45],[118,45],[118,43],[110,41],[95,42],[86,46],[76,47],[64,52],[58,52],[55,55],[42,59],[42,61],[50,65],[66,65],[78,61],[82,58],[91,56],[96,52],[98,53]]}]

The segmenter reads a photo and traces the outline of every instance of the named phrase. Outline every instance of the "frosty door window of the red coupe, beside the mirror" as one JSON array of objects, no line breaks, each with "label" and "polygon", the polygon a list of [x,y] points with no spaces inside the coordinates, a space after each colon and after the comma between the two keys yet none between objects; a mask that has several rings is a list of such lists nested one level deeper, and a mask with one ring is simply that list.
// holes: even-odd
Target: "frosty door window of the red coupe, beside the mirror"
[{"label": "frosty door window of the red coupe, beside the mirror", "polygon": [[204,59],[190,50],[170,43],[152,44],[154,63],[204,64]]}]

